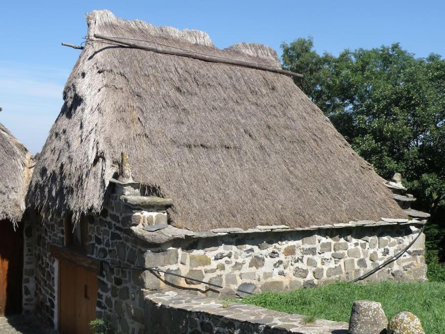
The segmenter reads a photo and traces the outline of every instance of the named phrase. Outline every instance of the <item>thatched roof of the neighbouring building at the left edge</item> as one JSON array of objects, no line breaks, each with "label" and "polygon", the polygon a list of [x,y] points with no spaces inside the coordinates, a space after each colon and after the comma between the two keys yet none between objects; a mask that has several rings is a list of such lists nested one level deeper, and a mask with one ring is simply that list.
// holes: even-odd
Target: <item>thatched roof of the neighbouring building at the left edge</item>
[{"label": "thatched roof of the neighbouring building at the left edge", "polygon": [[31,153],[0,123],[0,221],[21,220],[31,163]]}]

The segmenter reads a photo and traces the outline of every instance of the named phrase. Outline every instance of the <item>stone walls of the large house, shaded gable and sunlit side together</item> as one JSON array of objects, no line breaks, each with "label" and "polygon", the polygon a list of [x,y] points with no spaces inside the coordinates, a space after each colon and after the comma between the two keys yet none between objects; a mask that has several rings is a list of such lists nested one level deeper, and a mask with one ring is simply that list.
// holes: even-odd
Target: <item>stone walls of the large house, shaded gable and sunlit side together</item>
[{"label": "stone walls of the large house, shaded gable and sunlit side together", "polygon": [[[134,204],[141,197],[136,189],[111,184],[102,213],[88,218],[88,256],[104,264],[98,277],[97,317],[109,320],[117,333],[143,333],[144,298],[151,291],[181,288],[235,296],[242,295],[238,289],[258,293],[352,280],[402,250],[420,227],[420,222],[365,222],[310,230],[266,226],[194,233],[166,225],[165,210],[147,207],[149,201],[142,201],[143,208]],[[49,245],[64,245],[63,226],[57,218],[36,227],[36,310],[49,322],[54,322],[57,308],[57,264]],[[156,226],[162,233],[144,230]],[[136,267],[156,267],[224,288]],[[425,272],[422,235],[402,258],[367,280],[422,281]]]}]

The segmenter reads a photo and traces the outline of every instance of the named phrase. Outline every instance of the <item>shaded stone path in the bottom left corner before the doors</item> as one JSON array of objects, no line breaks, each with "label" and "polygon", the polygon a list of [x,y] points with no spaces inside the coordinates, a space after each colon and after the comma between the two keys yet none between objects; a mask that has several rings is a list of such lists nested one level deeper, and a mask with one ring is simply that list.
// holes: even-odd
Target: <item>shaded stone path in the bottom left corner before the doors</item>
[{"label": "shaded stone path in the bottom left corner before the doors", "polygon": [[35,315],[10,315],[0,317],[1,334],[59,334],[59,332],[43,325]]}]

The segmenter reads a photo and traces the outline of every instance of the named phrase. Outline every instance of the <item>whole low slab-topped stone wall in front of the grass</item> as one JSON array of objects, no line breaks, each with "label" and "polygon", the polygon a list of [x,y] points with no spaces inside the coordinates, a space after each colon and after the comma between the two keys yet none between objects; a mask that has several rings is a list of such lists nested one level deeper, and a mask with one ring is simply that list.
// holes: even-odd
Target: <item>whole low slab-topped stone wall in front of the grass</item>
[{"label": "whole low slab-topped stone wall in front of the grass", "polygon": [[227,303],[184,292],[149,294],[145,299],[145,333],[347,334],[348,324]]}]

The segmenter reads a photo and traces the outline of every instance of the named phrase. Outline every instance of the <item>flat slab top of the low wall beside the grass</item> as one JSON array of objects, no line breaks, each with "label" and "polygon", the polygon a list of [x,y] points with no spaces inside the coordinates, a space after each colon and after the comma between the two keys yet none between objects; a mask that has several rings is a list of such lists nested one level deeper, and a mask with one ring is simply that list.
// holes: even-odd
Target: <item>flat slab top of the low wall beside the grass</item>
[{"label": "flat slab top of the low wall beside the grass", "polygon": [[[316,319],[312,323],[304,323],[304,315],[288,314],[258,306],[225,302],[216,298],[199,297],[183,291],[166,291],[150,293],[146,302],[151,301],[164,308],[172,308],[189,312],[205,312],[225,319],[258,324],[280,333],[299,334],[347,334],[348,323]],[[275,333],[275,332],[274,332]]]}]

